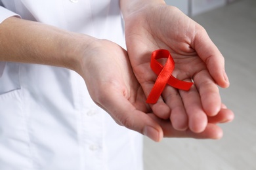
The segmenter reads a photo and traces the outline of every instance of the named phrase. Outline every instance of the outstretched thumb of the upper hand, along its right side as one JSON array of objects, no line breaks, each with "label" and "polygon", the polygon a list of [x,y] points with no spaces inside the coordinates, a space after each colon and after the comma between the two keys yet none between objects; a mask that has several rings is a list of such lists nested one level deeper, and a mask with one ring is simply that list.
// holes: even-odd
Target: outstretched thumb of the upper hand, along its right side
[{"label": "outstretched thumb of the upper hand, along its right side", "polygon": [[209,69],[209,73],[215,82],[219,86],[227,88],[229,86],[229,81],[224,69],[223,55],[211,41],[205,29],[200,27],[198,30],[199,31],[194,38],[193,47],[207,65],[207,69]]}]

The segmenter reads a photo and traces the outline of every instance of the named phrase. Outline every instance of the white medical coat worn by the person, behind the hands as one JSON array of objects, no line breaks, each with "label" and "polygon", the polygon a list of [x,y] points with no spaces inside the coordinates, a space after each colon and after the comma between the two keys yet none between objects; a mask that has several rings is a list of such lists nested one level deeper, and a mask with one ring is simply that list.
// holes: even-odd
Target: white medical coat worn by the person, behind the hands
[{"label": "white medical coat worn by the person, behind the hands", "polygon": [[[0,21],[18,14],[124,46],[118,0],[1,2]],[[142,169],[142,136],[97,107],[77,73],[10,62],[1,69],[1,170]]]}]

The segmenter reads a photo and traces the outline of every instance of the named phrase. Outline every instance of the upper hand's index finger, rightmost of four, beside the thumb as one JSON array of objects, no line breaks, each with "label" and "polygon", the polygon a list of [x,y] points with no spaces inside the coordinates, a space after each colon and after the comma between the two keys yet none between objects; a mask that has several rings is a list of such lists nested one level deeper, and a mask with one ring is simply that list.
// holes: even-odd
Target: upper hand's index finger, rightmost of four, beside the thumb
[{"label": "upper hand's index finger, rightmost of four, beside the thumb", "polygon": [[200,93],[203,110],[208,116],[215,116],[221,110],[219,88],[207,70],[200,71],[194,75],[193,79]]}]

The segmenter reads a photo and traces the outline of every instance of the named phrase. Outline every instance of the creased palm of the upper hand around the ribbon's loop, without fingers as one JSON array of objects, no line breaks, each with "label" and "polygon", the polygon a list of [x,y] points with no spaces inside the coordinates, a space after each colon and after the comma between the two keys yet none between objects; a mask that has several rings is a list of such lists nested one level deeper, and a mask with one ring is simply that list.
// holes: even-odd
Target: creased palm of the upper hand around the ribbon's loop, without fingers
[{"label": "creased palm of the upper hand around the ribbon's loop, without fingers", "polygon": [[[146,69],[144,66],[150,63],[148,56],[151,52],[164,48],[171,52],[175,60],[175,76],[180,79],[192,78],[199,71],[206,69],[205,63],[198,57],[192,46],[192,39],[194,39],[196,29],[199,29],[199,25],[192,22],[184,14],[177,14],[176,11],[169,8],[157,9],[161,10],[161,15],[155,15],[154,17],[141,16],[146,18],[143,20],[136,14],[135,17],[131,16],[132,21],[126,22],[125,37],[133,69],[142,69],[142,71]],[[168,16],[172,17],[168,18]],[[170,26],[167,27],[167,25]],[[167,28],[161,29],[163,27]],[[144,58],[141,58],[141,56],[144,56]],[[155,79],[152,78],[152,80]]]}]

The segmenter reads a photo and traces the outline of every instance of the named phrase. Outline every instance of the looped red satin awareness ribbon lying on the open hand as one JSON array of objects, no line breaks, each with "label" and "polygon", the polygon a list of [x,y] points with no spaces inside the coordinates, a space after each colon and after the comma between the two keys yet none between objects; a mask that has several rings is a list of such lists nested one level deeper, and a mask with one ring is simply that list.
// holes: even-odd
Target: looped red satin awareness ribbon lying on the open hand
[{"label": "looped red satin awareness ribbon lying on the open hand", "polygon": [[[157,61],[157,59],[160,58],[167,58],[164,66]],[[146,103],[156,103],[161,93],[163,92],[166,84],[169,84],[170,86],[173,86],[173,88],[177,88],[180,90],[190,90],[193,84],[192,82],[184,82],[178,80],[171,75],[171,73],[173,73],[175,63],[168,50],[156,50],[152,52],[150,67],[154,71],[154,73],[158,75],[158,78],[156,79],[156,82],[150,94],[148,95]]]}]

